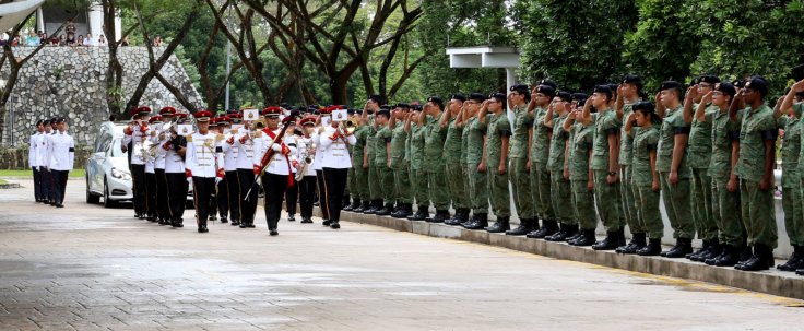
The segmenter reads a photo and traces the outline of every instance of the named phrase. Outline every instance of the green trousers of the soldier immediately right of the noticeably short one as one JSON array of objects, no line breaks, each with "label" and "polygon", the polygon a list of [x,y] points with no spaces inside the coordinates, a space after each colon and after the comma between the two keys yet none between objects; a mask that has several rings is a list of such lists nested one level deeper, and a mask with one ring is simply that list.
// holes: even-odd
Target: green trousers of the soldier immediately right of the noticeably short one
[{"label": "green trousers of the soldier immediately right of the noticeably short one", "polygon": [[673,238],[695,238],[695,223],[693,222],[691,203],[689,202],[689,179],[678,179],[675,185],[667,180],[669,173],[659,173],[662,186],[662,202],[664,212],[673,227]]}]

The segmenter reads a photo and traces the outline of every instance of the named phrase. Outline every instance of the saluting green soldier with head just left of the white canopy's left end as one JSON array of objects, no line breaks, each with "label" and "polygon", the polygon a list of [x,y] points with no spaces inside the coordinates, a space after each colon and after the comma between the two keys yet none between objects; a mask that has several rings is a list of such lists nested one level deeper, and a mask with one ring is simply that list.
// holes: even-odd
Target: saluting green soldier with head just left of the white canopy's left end
[{"label": "saluting green soldier with head just left of the white canopy's left end", "polygon": [[[429,97],[425,113],[427,116],[424,121],[427,125],[424,135],[424,169],[427,173],[430,203],[436,209],[436,215],[426,221],[442,223],[449,218],[449,194],[444,167],[444,142],[447,139],[447,128],[440,125],[441,116],[444,116],[444,101],[437,96]],[[424,121],[419,120],[419,123]]]}]

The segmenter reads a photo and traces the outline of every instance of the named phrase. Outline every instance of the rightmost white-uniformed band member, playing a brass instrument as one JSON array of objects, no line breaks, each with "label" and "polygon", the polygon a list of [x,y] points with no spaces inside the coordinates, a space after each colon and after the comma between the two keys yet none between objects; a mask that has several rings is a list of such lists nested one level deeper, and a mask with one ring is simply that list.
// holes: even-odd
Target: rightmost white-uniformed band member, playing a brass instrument
[{"label": "rightmost white-uniformed band member, playing a brass instrument", "polygon": [[[332,106],[330,111],[342,109]],[[323,177],[327,187],[327,205],[329,206],[330,227],[341,228],[341,209],[343,209],[343,192],[346,190],[348,169],[352,167],[352,157],[348,154],[350,146],[357,139],[343,127],[341,122],[332,120],[319,134],[319,144],[323,150],[322,165]]]}]

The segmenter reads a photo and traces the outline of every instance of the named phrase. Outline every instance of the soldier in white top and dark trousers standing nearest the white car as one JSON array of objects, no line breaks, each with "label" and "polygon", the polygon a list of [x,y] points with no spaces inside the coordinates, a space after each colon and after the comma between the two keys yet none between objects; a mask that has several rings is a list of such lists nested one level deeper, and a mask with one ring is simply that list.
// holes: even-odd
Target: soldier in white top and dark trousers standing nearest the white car
[{"label": "soldier in white top and dark trousers standing nearest the white car", "polygon": [[67,178],[72,170],[75,162],[75,141],[72,135],[67,133],[67,119],[59,117],[56,119],[57,133],[54,134],[50,143],[50,174],[54,181],[54,205],[57,208],[64,206],[64,192],[67,189]]}]

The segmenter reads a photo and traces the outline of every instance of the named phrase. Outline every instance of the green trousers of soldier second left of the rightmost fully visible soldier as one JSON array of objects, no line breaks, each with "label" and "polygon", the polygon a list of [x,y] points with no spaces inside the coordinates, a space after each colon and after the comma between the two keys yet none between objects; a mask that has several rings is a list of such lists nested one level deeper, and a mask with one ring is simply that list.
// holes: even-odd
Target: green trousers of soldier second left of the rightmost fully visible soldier
[{"label": "green trousers of soldier second left of the rightmost fully visible soldier", "polygon": [[708,169],[693,168],[693,222],[698,238],[712,240],[718,238],[718,222],[714,218],[712,204],[712,178]]}]

